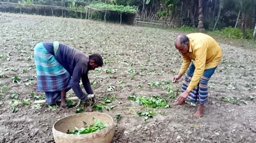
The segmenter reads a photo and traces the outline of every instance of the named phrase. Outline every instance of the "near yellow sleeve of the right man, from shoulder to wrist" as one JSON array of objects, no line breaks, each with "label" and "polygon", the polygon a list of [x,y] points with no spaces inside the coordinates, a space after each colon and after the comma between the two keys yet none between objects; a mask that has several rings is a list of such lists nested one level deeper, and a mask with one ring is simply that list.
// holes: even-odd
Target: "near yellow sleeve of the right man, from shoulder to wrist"
[{"label": "near yellow sleeve of the right man, from shoulder to wrist", "polygon": [[207,48],[197,48],[195,50],[195,71],[192,80],[189,83],[188,91],[192,91],[199,83],[204,74],[207,56]]}]

